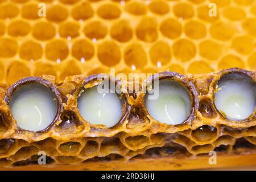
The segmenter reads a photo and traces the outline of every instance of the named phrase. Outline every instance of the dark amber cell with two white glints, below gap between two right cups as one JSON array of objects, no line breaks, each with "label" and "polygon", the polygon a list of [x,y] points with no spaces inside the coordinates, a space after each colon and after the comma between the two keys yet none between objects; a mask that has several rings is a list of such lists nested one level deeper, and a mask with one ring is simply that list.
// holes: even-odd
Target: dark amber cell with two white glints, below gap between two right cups
[{"label": "dark amber cell with two white glints, below gap between two right cups", "polygon": [[199,142],[208,142],[216,139],[217,129],[213,126],[203,125],[193,130],[191,136]]}]

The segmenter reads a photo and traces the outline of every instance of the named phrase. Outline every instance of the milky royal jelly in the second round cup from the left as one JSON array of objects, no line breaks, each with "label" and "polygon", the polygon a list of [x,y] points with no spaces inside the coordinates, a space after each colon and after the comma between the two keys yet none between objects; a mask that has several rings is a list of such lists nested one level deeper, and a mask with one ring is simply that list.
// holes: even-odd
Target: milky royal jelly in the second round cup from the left
[{"label": "milky royal jelly in the second round cup from the left", "polygon": [[100,93],[97,86],[84,89],[77,99],[81,116],[93,125],[112,127],[122,117],[122,102],[116,93]]}]

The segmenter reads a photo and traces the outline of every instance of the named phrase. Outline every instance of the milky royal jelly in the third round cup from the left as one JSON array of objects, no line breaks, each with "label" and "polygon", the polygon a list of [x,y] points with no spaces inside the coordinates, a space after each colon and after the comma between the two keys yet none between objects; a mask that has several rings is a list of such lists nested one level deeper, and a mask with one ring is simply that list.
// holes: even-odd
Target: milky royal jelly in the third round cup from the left
[{"label": "milky royal jelly in the third round cup from the left", "polygon": [[169,125],[178,125],[185,121],[191,114],[191,96],[185,86],[172,80],[160,80],[157,99],[148,99],[146,94],[145,102],[148,113],[154,119]]}]

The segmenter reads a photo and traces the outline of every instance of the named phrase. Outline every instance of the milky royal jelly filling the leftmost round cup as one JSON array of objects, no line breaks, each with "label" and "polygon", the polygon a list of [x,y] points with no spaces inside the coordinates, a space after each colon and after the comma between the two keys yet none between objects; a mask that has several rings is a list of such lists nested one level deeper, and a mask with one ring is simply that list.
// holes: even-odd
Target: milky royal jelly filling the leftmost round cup
[{"label": "milky royal jelly filling the leftmost round cup", "polygon": [[20,86],[11,96],[11,113],[20,129],[40,131],[46,129],[57,113],[55,94],[46,86],[30,83]]}]

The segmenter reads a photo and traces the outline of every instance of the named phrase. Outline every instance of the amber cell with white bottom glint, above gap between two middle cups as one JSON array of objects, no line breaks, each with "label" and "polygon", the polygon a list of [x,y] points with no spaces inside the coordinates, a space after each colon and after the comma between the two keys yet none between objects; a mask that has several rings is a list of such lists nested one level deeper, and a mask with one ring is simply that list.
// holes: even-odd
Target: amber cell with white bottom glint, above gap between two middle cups
[{"label": "amber cell with white bottom glint, above gap between two middle cups", "polygon": [[132,69],[143,68],[147,63],[147,55],[141,44],[134,43],[126,47],[124,52],[125,63]]}]

